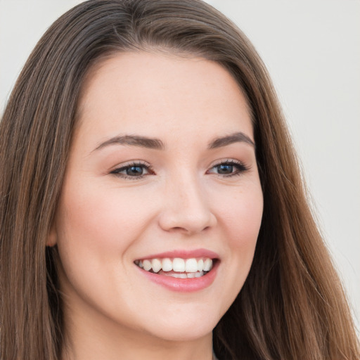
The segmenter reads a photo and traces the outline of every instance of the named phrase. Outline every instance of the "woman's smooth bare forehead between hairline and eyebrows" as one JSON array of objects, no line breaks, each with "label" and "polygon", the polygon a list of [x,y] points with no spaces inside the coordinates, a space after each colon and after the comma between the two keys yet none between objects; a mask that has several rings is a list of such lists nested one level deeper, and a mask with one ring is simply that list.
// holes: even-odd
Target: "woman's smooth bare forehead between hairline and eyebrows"
[{"label": "woman's smooth bare forehead between hairline and eyebrows", "polygon": [[244,131],[248,103],[218,63],[164,53],[117,53],[97,63],[84,82],[80,129],[96,137],[133,133],[171,136]]}]

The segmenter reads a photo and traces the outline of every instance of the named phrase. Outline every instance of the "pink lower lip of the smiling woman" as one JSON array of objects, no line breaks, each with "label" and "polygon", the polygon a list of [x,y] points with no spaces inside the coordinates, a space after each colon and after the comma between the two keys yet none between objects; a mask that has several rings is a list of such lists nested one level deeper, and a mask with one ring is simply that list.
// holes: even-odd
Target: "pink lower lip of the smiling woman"
[{"label": "pink lower lip of the smiling woman", "polygon": [[[136,265],[135,265],[136,266]],[[138,269],[141,274],[146,276],[153,283],[157,283],[169,290],[179,291],[181,293],[191,293],[193,291],[203,290],[208,288],[215,280],[217,276],[217,268],[219,267],[219,260],[215,262],[212,269],[200,278],[173,278],[172,276],[158,275],[150,273],[149,271]]]}]

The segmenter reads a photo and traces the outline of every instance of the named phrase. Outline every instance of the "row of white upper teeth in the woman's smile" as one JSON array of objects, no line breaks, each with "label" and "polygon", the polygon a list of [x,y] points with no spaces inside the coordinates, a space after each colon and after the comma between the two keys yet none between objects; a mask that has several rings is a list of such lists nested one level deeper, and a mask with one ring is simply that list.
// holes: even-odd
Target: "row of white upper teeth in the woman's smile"
[{"label": "row of white upper teeth in the woman's smile", "polygon": [[176,271],[186,273],[196,273],[198,271],[210,271],[212,269],[212,259],[209,257],[202,257],[200,259],[181,259],[175,257],[174,259],[145,259],[136,260],[136,265],[140,266],[146,271],[153,270],[158,273],[162,271]]}]

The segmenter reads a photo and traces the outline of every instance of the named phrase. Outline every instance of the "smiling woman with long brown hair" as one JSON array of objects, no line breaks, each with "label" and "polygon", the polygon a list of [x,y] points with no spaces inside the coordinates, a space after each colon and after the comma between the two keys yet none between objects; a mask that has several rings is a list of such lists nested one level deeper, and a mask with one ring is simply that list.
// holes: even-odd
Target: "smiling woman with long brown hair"
[{"label": "smiling woman with long brown hair", "polygon": [[73,8],[0,137],[1,359],[359,358],[271,81],[211,6]]}]

